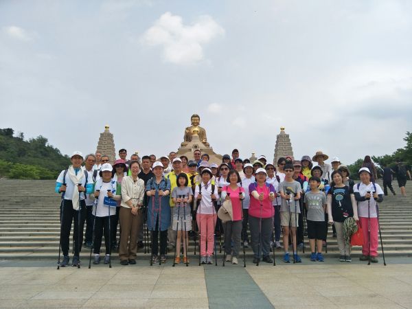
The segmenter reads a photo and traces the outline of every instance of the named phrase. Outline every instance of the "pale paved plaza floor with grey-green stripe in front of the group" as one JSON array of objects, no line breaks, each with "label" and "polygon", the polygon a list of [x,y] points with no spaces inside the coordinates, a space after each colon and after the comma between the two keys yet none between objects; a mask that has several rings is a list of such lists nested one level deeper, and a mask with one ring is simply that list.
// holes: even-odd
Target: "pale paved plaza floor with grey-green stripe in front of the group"
[{"label": "pale paved plaza floor with grey-green stripe in front of the group", "polygon": [[1,308],[412,308],[412,259],[255,266],[0,261]]}]

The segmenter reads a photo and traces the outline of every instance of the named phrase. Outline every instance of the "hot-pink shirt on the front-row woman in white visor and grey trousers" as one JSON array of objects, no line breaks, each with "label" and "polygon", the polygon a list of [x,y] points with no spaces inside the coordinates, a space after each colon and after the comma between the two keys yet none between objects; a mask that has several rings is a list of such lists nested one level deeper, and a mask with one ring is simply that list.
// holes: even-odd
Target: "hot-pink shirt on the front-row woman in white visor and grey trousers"
[{"label": "hot-pink shirt on the front-row woman in white visor and grey trousers", "polygon": [[[252,192],[257,191],[258,194],[264,194],[264,198],[262,201],[262,216],[260,213],[260,201],[257,200],[253,195]],[[276,193],[275,188],[273,185],[265,183],[263,187],[260,187],[258,183],[251,183],[249,185],[249,195],[251,196],[251,205],[249,206],[249,215],[255,218],[271,218],[275,215],[275,207],[272,206],[272,202],[269,200],[269,193],[273,192]]]}]

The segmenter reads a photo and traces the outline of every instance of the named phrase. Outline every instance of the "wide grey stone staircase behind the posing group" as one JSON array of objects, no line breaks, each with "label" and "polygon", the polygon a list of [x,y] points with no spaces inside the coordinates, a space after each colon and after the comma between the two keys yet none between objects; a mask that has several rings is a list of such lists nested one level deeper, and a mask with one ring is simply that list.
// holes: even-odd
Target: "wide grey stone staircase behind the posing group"
[{"label": "wide grey stone staircase behind the posing group", "polygon": [[[57,258],[60,195],[54,193],[54,185],[55,181],[0,179],[0,260]],[[385,196],[380,204],[385,255],[412,256],[412,193],[403,197],[398,188],[395,190],[396,196]],[[189,248],[192,255],[193,245]],[[89,252],[83,250],[82,256],[85,258]],[[277,250],[277,255],[281,252]],[[361,247],[354,247],[352,252],[360,254]],[[252,255],[250,248],[247,255]],[[336,238],[329,229],[326,256],[338,255]],[[138,252],[138,259],[142,258],[149,258],[143,249]]]}]

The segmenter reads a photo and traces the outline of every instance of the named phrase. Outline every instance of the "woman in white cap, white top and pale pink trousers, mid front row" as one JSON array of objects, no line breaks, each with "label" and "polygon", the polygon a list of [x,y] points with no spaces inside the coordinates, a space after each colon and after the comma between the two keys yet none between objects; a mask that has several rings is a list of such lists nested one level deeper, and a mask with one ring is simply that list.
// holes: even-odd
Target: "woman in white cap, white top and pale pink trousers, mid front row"
[{"label": "woman in white cap, white top and pale pink trousers, mid front row", "polygon": [[[211,264],[211,256],[214,253],[214,227],[216,223],[216,209],[214,201],[218,196],[218,190],[211,184],[211,170],[202,170],[202,182],[196,185],[194,198],[197,201],[196,221],[200,232],[200,254],[202,264]],[[216,254],[216,253],[215,253]]]}]

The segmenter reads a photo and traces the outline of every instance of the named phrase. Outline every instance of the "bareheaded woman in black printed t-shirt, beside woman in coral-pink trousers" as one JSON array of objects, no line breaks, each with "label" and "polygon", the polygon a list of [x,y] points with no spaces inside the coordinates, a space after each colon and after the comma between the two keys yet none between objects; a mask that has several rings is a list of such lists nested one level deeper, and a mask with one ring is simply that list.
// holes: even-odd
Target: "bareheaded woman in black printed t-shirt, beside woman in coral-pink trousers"
[{"label": "bareheaded woman in black printed t-shirt, beside woman in coral-pink trousers", "polygon": [[[358,209],[353,190],[343,183],[343,175],[339,170],[332,172],[332,186],[328,192],[328,217],[329,224],[336,228],[338,247],[341,253],[339,261],[352,262],[350,258],[350,244],[345,242],[343,235],[343,222],[346,218],[358,218]],[[313,252],[313,251],[312,251]]]}]

